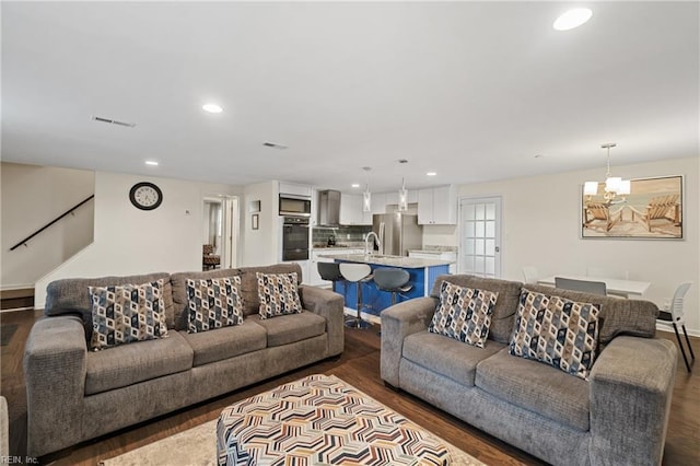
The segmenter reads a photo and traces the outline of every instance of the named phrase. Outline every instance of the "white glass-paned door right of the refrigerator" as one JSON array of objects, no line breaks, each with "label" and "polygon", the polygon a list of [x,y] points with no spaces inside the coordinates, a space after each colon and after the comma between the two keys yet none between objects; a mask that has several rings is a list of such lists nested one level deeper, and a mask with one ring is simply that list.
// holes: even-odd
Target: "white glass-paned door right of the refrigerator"
[{"label": "white glass-paned door right of the refrigerator", "polygon": [[459,273],[501,277],[501,198],[459,199]]}]

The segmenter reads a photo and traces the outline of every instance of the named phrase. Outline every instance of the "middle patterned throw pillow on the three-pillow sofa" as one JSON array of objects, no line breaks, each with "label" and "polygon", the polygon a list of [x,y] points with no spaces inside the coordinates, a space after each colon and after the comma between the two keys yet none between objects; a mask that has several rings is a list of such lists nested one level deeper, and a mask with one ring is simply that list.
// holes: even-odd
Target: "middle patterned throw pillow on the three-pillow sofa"
[{"label": "middle patterned throw pillow on the three-pillow sofa", "polygon": [[187,279],[187,310],[190,334],[243,324],[241,277]]}]

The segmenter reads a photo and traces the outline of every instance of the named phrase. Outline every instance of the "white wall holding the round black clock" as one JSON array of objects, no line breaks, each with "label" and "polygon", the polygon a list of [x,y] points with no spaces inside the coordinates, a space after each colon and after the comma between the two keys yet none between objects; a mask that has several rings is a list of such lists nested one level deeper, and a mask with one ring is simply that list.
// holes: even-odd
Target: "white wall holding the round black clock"
[{"label": "white wall holding the round black clock", "polygon": [[[163,191],[155,210],[139,210],[129,201],[129,189],[142,180]],[[46,286],[60,278],[201,270],[202,199],[240,191],[226,185],[97,172],[94,243],[36,282],[35,306],[44,306]]]}]

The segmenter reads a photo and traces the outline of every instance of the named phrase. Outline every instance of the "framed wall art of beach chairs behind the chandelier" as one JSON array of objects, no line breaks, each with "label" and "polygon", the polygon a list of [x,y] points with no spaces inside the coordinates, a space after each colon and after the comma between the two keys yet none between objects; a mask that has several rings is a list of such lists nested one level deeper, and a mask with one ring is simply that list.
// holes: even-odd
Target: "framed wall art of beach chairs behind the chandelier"
[{"label": "framed wall art of beach chairs behind the chandelier", "polygon": [[582,190],[582,238],[681,240],[682,176],[630,179],[629,194]]}]

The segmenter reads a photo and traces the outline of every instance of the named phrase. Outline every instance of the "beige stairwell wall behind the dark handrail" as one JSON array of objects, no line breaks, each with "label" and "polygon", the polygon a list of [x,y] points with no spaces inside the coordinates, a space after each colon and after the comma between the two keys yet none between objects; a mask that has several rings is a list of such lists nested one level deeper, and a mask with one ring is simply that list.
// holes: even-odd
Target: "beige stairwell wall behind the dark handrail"
[{"label": "beige stairwell wall behind the dark handrail", "polygon": [[36,230],[94,193],[95,174],[2,162],[2,252],[0,286],[33,288],[52,270],[93,241],[94,201],[89,201],[37,236],[27,247],[10,251]]}]

